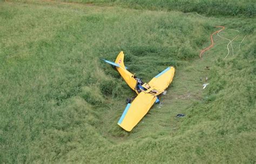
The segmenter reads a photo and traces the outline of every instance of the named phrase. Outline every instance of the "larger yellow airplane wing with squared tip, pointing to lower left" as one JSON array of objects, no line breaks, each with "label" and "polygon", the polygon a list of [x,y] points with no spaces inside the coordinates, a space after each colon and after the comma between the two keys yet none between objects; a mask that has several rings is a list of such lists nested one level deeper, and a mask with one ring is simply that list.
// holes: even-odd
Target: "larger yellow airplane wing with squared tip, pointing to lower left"
[{"label": "larger yellow airplane wing with squared tip, pointing to lower left", "polygon": [[125,129],[125,131],[130,132],[144,117],[144,115],[147,114],[156,100],[156,96],[140,92],[131,104],[127,104],[124,113],[117,124]]}]

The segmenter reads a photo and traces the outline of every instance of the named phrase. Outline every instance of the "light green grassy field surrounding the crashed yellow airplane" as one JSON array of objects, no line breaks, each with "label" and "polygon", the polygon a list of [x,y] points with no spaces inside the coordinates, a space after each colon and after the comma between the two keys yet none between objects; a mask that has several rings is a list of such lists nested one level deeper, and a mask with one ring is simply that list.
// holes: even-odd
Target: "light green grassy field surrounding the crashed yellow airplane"
[{"label": "light green grassy field surrounding the crashed yellow airplane", "polygon": [[[256,162],[253,14],[90,2],[98,5],[0,2],[0,163]],[[199,59],[216,25],[222,37],[239,34],[234,54],[224,60],[228,41],[214,36]],[[176,67],[161,104],[131,133],[117,121],[135,93],[100,60],[120,51],[143,81]]]}]

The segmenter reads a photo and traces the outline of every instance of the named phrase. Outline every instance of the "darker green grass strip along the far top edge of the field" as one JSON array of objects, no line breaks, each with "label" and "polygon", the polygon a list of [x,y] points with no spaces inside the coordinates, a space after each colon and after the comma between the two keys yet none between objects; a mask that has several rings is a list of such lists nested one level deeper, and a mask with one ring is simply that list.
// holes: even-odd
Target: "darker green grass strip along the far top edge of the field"
[{"label": "darker green grass strip along the far top edge of the field", "polygon": [[133,9],[198,12],[209,16],[254,17],[256,14],[256,4],[253,0],[64,0],[63,2],[120,5]]}]

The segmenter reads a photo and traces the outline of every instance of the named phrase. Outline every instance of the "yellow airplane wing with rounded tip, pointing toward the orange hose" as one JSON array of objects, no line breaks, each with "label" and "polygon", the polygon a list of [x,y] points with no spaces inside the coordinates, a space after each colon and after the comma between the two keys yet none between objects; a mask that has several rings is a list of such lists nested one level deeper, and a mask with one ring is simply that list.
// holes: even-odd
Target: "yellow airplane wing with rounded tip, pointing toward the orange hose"
[{"label": "yellow airplane wing with rounded tip, pointing toward the orange hose", "polygon": [[164,92],[164,90],[172,83],[174,72],[174,67],[167,67],[167,69],[154,77],[149,82],[149,85],[152,86],[154,89],[158,90],[159,92]]}]

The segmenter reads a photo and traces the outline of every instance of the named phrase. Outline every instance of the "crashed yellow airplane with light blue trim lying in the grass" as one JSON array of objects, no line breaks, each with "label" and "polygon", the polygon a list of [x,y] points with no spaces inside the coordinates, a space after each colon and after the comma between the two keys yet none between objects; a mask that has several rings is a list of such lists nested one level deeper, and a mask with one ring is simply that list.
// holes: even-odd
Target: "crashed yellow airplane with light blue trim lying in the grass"
[{"label": "crashed yellow airplane with light blue trim lying in the grass", "polygon": [[117,123],[125,131],[130,132],[142,120],[144,115],[147,114],[151,106],[160,102],[157,96],[163,93],[171,84],[175,69],[174,67],[167,67],[167,69],[160,72],[149,83],[143,83],[135,74],[126,70],[123,51],[118,54],[114,63],[105,59],[103,60],[116,67],[125,82],[138,94],[132,102],[127,102],[128,104],[122,117]]}]

